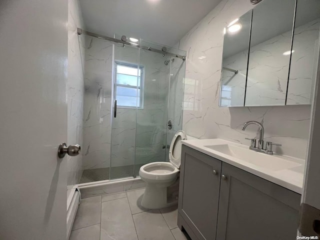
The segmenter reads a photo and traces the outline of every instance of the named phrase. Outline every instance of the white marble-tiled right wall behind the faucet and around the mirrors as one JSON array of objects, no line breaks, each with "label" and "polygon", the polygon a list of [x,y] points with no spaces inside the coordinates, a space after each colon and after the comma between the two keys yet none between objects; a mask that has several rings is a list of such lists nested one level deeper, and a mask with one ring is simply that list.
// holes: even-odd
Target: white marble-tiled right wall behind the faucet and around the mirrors
[{"label": "white marble-tiled right wall behind the faucet and around the mirrors", "polygon": [[219,137],[248,145],[255,127],[241,130],[242,123],[263,123],[265,139],[281,143],[274,150],[305,158],[310,106],[218,107],[223,27],[254,5],[248,0],[222,0],[179,41],[187,51],[182,128],[199,138]]}]

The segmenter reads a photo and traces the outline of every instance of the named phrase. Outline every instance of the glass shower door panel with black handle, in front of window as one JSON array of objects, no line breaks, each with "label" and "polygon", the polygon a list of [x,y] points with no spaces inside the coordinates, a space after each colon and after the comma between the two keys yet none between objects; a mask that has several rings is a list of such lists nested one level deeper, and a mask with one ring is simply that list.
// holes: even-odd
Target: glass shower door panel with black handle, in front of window
[{"label": "glass shower door panel with black handle, in front of window", "polygon": [[110,179],[133,176],[136,109],[140,106],[139,49],[114,44]]}]

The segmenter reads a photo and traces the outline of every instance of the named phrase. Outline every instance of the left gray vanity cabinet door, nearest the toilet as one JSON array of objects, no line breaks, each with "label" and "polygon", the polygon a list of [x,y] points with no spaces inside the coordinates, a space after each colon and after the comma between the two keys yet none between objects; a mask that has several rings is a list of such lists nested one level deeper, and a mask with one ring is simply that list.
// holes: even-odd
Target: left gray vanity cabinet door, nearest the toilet
[{"label": "left gray vanity cabinet door, nearest the toilet", "polygon": [[220,172],[220,160],[182,145],[178,226],[192,240],[215,239]]}]

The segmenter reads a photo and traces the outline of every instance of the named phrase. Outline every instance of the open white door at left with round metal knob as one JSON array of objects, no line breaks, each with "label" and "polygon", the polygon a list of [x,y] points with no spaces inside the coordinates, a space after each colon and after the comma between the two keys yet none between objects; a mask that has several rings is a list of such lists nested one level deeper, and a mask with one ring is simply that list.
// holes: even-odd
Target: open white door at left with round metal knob
[{"label": "open white door at left with round metal knob", "polygon": [[67,1],[0,0],[0,239],[65,240],[66,79]]}]

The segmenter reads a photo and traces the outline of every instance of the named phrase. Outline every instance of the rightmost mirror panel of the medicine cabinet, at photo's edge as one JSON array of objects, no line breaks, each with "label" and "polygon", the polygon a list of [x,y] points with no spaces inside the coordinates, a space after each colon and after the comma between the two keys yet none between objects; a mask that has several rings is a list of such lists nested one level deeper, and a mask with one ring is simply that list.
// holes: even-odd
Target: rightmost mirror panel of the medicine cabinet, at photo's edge
[{"label": "rightmost mirror panel of the medicine cabinet, at photo's edge", "polygon": [[297,0],[286,104],[310,104],[319,43],[320,0]]}]

